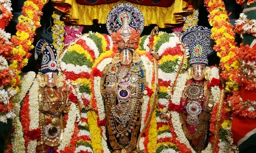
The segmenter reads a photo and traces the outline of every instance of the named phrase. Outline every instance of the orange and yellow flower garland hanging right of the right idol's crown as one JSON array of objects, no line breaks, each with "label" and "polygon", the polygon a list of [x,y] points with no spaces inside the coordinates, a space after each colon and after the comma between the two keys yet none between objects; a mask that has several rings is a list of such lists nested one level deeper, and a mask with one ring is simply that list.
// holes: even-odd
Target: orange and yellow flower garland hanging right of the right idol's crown
[{"label": "orange and yellow flower garland hanging right of the right idol's crown", "polygon": [[204,0],[204,4],[210,12],[209,23],[213,26],[211,38],[216,42],[213,49],[220,57],[219,66],[222,69],[220,75],[226,80],[227,91],[238,91],[239,85],[233,79],[239,67],[238,47],[235,42],[235,32],[232,31],[234,26],[229,23],[229,16],[222,0]]}]

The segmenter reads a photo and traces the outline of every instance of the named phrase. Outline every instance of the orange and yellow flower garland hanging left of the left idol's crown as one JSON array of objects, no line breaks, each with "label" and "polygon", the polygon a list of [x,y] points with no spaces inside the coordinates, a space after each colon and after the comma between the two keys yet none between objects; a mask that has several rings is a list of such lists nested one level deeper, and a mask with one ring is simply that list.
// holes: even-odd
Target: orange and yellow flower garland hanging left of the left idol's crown
[{"label": "orange and yellow flower garland hanging left of the left idol's crown", "polygon": [[31,53],[28,53],[34,48],[33,41],[36,29],[40,25],[40,16],[43,14],[43,6],[48,0],[27,0],[22,7],[22,15],[18,17],[19,23],[16,26],[16,35],[11,38],[12,59],[10,59],[10,68],[15,71],[15,83],[16,87],[20,82],[19,74],[21,69],[27,65],[28,58]]}]

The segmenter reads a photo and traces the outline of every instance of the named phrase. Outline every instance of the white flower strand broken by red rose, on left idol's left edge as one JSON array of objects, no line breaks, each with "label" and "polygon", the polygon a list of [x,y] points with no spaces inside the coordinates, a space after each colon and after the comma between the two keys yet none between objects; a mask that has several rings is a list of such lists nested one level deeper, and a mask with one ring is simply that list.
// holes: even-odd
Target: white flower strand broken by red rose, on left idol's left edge
[{"label": "white flower strand broken by red rose, on left idol's left edge", "polygon": [[[34,81],[29,91],[29,130],[39,128],[39,84],[37,80]],[[30,140],[27,145],[27,152],[35,153],[37,148],[37,140]]]}]

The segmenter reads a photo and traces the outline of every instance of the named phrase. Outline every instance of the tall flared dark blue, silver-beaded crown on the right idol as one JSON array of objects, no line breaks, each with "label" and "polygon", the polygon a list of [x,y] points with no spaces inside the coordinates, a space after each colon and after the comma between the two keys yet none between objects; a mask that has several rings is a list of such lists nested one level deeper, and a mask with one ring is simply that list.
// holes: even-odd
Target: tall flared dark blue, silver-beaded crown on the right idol
[{"label": "tall flared dark blue, silver-beaded crown on the right idol", "polygon": [[214,52],[210,35],[210,28],[205,26],[194,26],[183,33],[181,41],[189,48],[190,65],[208,65],[207,57]]}]

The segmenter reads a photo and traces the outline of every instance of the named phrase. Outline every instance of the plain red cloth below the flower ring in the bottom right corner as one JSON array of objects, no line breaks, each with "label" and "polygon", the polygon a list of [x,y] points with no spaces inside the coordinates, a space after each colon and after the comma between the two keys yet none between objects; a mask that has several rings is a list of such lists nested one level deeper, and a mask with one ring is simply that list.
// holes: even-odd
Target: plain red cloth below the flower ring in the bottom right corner
[{"label": "plain red cloth below the flower ring in the bottom right corner", "polygon": [[237,145],[238,141],[254,128],[256,128],[256,119],[233,116],[231,130],[235,144]]}]

